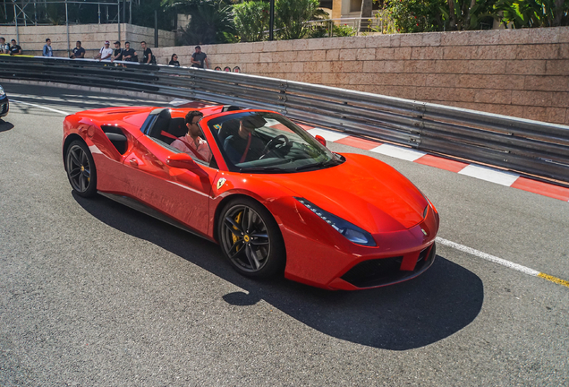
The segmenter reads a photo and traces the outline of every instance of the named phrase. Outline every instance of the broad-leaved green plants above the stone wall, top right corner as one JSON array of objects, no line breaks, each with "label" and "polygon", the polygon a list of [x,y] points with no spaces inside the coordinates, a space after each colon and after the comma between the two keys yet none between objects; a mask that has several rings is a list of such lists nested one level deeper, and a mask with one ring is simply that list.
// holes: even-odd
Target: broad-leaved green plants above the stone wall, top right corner
[{"label": "broad-leaved green plants above the stone wall, top right corner", "polygon": [[495,6],[505,25],[558,27],[569,25],[569,2],[564,0],[499,0]]}]

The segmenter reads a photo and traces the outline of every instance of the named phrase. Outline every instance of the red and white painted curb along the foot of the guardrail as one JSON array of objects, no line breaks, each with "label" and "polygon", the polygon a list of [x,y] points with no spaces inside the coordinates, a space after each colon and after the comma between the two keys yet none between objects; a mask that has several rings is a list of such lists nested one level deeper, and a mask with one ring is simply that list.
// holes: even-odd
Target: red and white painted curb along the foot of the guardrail
[{"label": "red and white painted curb along the foot of the guardrail", "polygon": [[[193,102],[187,99],[174,99],[172,102],[170,102],[170,104],[177,107],[198,107],[197,104],[200,104],[200,102]],[[201,106],[205,105],[201,104]],[[397,146],[389,143],[366,140],[341,132],[315,128],[307,125],[300,126],[314,136],[317,134],[321,135],[327,142],[335,142],[352,146],[361,150],[369,150],[389,157],[393,157],[395,159],[404,159],[429,167],[446,169],[460,175],[471,176],[480,180],[488,181],[490,183],[510,186],[522,191],[538,193],[543,196],[548,196],[564,202],[569,202],[569,188],[541,182],[538,180],[532,180],[531,178],[520,176],[514,172],[507,172],[497,168],[490,168],[477,164],[469,164],[466,162],[446,159],[443,157],[428,154],[424,151],[404,148],[402,146]]]}]

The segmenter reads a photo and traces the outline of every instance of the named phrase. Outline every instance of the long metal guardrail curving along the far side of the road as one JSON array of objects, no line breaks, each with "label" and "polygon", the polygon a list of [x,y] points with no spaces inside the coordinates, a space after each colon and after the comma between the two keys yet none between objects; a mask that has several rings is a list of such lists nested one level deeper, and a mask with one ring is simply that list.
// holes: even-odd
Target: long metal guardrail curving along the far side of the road
[{"label": "long metal guardrail curving along the far side of the road", "polygon": [[569,126],[243,73],[0,56],[0,77],[146,91],[242,107],[569,185]]}]

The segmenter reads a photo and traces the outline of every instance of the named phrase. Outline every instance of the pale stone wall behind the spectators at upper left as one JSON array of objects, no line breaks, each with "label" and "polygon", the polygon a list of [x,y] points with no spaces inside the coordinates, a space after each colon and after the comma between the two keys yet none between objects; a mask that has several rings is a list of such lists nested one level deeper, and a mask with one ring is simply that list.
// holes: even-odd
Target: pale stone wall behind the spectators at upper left
[{"label": "pale stone wall behind the spectators at upper left", "polygon": [[[140,27],[133,24],[121,24],[120,39],[117,24],[80,24],[69,26],[69,40],[71,48],[75,42],[81,40],[82,46],[87,50],[85,57],[93,57],[103,47],[105,40],[115,46],[115,40],[120,40],[122,47],[124,41],[131,42],[131,47],[140,51],[140,41],[145,40],[150,48],[154,47],[154,29]],[[64,25],[58,26],[28,26],[18,27],[19,42],[25,55],[41,55],[46,39],[51,39],[54,56],[68,56],[67,29]],[[0,36],[10,42],[18,40],[16,28],[13,26],[0,26]],[[158,30],[158,45],[164,47],[174,46],[174,32]],[[141,56],[140,56],[141,57]]]}]

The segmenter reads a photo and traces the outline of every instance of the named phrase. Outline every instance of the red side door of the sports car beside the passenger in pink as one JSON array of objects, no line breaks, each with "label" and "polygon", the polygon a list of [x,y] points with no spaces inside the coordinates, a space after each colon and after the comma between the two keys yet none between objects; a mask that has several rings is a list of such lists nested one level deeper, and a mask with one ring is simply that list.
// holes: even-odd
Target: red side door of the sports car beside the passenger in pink
[{"label": "red side door of the sports car beside the passenger in pink", "polygon": [[174,152],[146,135],[137,139],[124,159],[130,194],[206,236],[209,198],[217,169],[200,165],[207,174],[198,176],[187,169],[169,167],[166,159]]}]

